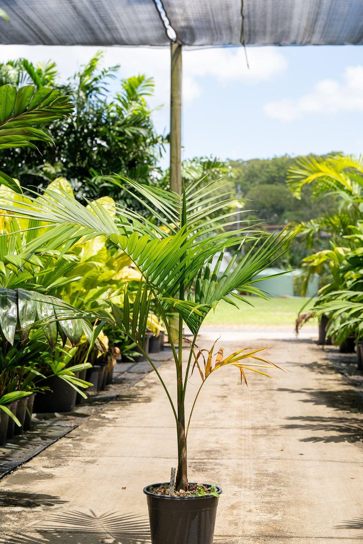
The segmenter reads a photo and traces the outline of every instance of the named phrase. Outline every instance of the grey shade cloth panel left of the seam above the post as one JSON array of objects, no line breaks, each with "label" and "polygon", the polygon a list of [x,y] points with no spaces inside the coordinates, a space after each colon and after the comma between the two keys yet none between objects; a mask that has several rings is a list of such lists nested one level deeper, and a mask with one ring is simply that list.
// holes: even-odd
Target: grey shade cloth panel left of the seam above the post
[{"label": "grey shade cloth panel left of the seam above the post", "polygon": [[169,45],[153,0],[0,0],[1,44]]}]

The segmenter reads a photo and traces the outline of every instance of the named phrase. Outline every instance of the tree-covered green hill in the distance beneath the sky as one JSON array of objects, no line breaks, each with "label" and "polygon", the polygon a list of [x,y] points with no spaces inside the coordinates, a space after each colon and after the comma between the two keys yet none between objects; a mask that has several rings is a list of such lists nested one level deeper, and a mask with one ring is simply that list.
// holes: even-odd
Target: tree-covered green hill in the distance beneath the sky
[{"label": "tree-covered green hill in the distance beneath the sky", "polygon": [[274,225],[290,221],[309,221],[334,209],[334,201],[324,199],[311,202],[310,189],[305,187],[302,199],[297,200],[286,186],[287,170],[298,157],[284,155],[272,159],[231,160],[236,189],[251,200],[246,209],[251,212],[245,219],[262,219]]}]

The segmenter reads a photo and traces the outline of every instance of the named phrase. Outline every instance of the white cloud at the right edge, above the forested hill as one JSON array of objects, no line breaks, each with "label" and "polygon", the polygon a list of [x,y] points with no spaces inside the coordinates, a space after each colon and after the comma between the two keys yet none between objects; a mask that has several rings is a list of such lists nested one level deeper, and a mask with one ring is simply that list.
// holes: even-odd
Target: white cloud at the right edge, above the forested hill
[{"label": "white cloud at the right edge, above the forested hill", "polygon": [[297,100],[282,98],[269,102],[264,106],[264,112],[280,121],[301,119],[306,114],[363,112],[363,66],[348,66],[341,83],[323,79]]}]

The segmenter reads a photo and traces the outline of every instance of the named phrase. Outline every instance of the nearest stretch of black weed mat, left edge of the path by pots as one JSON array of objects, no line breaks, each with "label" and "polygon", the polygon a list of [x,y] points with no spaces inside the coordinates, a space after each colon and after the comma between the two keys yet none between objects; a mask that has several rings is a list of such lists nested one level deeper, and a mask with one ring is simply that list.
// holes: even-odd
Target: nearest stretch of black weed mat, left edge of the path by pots
[{"label": "nearest stretch of black weed mat, left edge of the path by pots", "polygon": [[0,480],[76,428],[77,425],[34,423],[32,430],[0,446]]}]

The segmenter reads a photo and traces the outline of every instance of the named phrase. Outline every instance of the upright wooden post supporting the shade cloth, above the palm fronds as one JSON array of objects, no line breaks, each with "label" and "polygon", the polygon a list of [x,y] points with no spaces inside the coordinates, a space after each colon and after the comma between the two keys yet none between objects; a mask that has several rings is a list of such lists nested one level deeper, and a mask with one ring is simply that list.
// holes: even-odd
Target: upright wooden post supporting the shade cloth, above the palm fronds
[{"label": "upright wooden post supporting the shade cloth, above the palm fronds", "polygon": [[170,189],[181,194],[182,46],[171,44],[170,69]]}]

